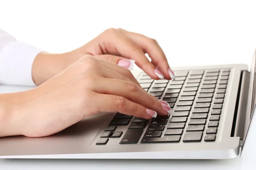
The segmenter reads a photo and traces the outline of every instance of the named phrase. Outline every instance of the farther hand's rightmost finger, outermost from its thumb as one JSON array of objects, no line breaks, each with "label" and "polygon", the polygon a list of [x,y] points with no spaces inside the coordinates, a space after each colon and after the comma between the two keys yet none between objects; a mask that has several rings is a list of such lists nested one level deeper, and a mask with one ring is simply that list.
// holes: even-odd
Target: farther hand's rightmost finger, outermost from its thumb
[{"label": "farther hand's rightmost finger, outermost from its thumb", "polygon": [[145,53],[148,54],[148,56],[152,59],[151,62],[157,66],[164,78],[175,78],[173,71],[168,64],[166,55],[156,40],[142,34],[126,31],[121,28],[119,28],[118,31],[134,41]]}]

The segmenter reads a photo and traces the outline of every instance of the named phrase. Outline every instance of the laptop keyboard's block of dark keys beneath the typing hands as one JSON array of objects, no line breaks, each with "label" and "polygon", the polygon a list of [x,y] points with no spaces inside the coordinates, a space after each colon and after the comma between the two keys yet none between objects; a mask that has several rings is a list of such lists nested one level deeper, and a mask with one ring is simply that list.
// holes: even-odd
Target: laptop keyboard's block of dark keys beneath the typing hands
[{"label": "laptop keyboard's block of dark keys beneath the typing hands", "polygon": [[[119,144],[214,142],[230,69],[174,73],[175,80],[154,80],[145,73],[138,79],[149,94],[169,103],[172,116],[146,120],[116,113],[96,144],[107,144],[113,138],[119,138]],[[120,131],[119,126],[127,130]]]}]

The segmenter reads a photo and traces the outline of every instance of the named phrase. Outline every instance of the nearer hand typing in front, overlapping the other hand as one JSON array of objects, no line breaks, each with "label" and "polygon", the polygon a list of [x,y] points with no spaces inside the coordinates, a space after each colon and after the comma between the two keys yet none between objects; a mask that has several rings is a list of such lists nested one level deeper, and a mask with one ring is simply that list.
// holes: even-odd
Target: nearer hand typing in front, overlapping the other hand
[{"label": "nearer hand typing in front, overlapping the other hand", "polygon": [[168,103],[141,88],[128,69],[91,56],[81,57],[20,96],[16,128],[12,129],[15,135],[29,137],[52,135],[99,112],[150,119],[172,111]]}]

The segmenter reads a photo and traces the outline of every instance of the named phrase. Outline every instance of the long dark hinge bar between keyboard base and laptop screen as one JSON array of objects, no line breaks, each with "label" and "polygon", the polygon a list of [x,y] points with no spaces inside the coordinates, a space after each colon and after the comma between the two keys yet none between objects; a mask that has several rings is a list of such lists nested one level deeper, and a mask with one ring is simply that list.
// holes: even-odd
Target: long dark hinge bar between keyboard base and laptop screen
[{"label": "long dark hinge bar between keyboard base and laptop screen", "polygon": [[244,137],[244,122],[246,118],[246,108],[247,108],[247,96],[249,90],[250,72],[242,71],[239,83],[239,91],[236,100],[236,108],[233,119],[233,127],[231,136],[240,137],[243,140]]}]

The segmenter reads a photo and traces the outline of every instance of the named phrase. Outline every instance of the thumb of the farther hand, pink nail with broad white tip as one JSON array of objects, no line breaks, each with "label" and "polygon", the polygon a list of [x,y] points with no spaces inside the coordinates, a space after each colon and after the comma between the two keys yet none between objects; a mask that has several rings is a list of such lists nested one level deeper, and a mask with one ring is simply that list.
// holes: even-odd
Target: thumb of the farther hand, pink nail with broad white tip
[{"label": "thumb of the farther hand, pink nail with broad white tip", "polygon": [[94,56],[97,59],[102,59],[104,61],[112,62],[114,64],[120,65],[123,68],[127,68],[128,70],[133,70],[135,60],[133,59],[126,59],[124,57],[119,57],[115,55],[105,54],[105,55],[98,55]]}]

